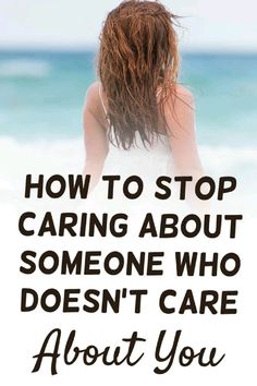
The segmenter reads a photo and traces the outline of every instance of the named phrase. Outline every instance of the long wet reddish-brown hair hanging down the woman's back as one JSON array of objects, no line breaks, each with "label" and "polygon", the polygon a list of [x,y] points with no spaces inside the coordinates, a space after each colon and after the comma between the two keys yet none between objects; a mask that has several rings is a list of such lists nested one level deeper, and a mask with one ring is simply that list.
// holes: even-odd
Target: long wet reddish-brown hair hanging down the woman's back
[{"label": "long wet reddish-brown hair hanging down the woman's back", "polygon": [[[103,24],[98,76],[107,102],[109,138],[124,149],[135,145],[136,131],[152,144],[163,105],[179,72],[178,17],[158,1],[122,1]],[[161,88],[159,102],[156,93]]]}]

